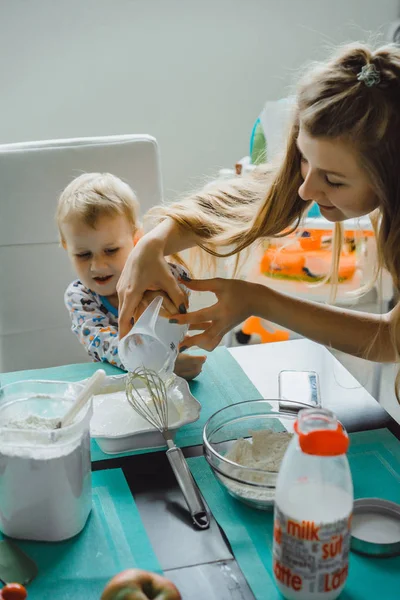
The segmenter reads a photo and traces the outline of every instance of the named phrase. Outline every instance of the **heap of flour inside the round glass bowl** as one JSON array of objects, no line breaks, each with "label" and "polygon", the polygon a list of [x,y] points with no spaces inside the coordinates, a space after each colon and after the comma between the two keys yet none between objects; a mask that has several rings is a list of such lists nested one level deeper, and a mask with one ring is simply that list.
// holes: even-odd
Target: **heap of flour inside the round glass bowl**
[{"label": "heap of flour inside the round glass bowl", "polygon": [[[235,496],[242,500],[250,501],[261,508],[270,507],[275,498],[275,484],[278,471],[292,439],[292,434],[284,432],[275,432],[270,430],[251,431],[252,439],[239,439],[229,449],[225,458],[232,462],[257,469],[257,471],[247,471],[239,466],[227,465],[224,472],[236,479],[245,479],[250,483],[238,483],[223,477],[224,484]],[[260,486],[255,487],[251,483],[257,483]]]}]

